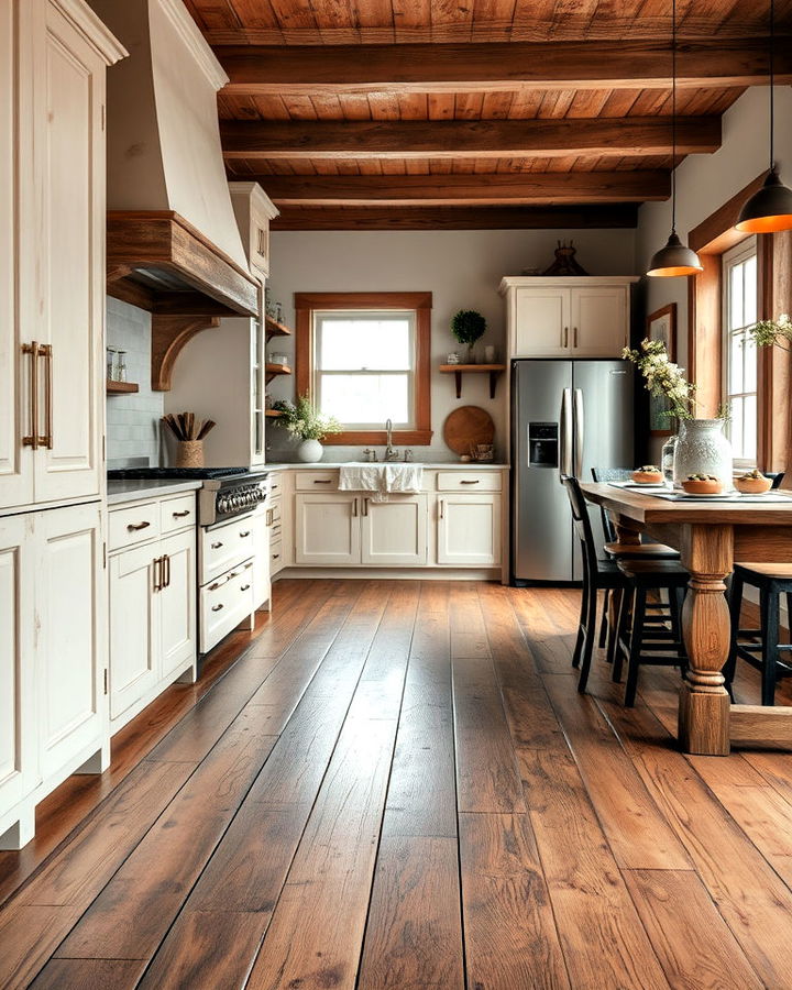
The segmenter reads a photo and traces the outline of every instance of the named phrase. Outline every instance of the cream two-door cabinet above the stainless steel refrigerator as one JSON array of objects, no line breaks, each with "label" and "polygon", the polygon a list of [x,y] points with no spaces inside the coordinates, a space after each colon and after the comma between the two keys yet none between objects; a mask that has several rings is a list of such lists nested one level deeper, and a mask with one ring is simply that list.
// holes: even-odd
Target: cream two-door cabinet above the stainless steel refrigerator
[{"label": "cream two-door cabinet above the stainless steel refrigerator", "polygon": [[504,278],[510,358],[620,358],[632,277]]}]

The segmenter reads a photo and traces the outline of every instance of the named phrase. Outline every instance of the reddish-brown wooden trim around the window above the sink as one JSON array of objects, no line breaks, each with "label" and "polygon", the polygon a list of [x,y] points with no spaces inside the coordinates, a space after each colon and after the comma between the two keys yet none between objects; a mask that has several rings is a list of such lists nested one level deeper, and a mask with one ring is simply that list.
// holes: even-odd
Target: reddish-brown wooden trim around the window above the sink
[{"label": "reddish-brown wooden trim around the window above the sink", "polygon": [[[415,399],[416,427],[394,430],[394,443],[428,447],[431,443],[431,293],[295,293],[295,377],[297,395],[310,395],[314,382],[311,323],[314,310],[414,309],[416,311]],[[326,447],[383,446],[382,430],[344,430],[322,440]]]}]

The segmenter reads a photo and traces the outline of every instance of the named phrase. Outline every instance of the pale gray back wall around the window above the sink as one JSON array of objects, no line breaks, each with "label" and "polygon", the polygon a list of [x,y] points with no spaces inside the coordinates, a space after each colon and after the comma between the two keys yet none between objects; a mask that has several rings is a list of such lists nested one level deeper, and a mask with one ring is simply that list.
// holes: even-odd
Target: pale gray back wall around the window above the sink
[{"label": "pale gray back wall around the window above the sink", "polygon": [[[280,231],[272,235],[267,287],[284,305],[284,319],[294,326],[294,294],[300,292],[426,292],[433,294],[431,404],[435,436],[430,447],[416,449],[417,460],[451,460],[442,440],[446,417],[460,405],[487,409],[495,421],[498,455],[507,453],[505,388],[490,398],[486,375],[463,381],[457,399],[452,375],[437,372],[446,355],[461,350],[449,322],[458,309],[477,309],[487,332],[477,348],[494,344],[504,354],[505,311],[497,288],[504,275],[522,268],[547,268],[559,239],[574,240],[576,260],[591,275],[631,275],[635,271],[634,230],[461,230],[461,231]],[[276,338],[272,351],[293,356],[294,340]],[[294,397],[294,381],[276,378],[275,399]],[[268,430],[267,459],[292,459],[293,446],[277,427]],[[360,448],[328,447],[324,460],[359,458]]]}]

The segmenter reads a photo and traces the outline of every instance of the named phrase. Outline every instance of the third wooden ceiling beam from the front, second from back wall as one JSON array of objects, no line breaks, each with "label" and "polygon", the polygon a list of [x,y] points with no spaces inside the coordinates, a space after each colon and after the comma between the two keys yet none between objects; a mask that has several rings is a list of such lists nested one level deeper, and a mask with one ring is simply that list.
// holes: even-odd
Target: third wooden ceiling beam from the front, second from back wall
[{"label": "third wooden ceiling beam from the front, second from back wall", "polygon": [[249,176],[284,206],[487,206],[668,199],[668,172]]}]

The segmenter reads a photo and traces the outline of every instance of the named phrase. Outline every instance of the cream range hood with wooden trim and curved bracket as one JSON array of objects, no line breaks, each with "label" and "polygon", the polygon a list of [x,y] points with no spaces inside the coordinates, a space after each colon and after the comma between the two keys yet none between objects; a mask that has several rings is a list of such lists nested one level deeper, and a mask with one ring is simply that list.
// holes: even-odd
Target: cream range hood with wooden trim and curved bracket
[{"label": "cream range hood with wooden trim and curved bracket", "polygon": [[257,316],[220,145],[228,78],[182,0],[89,0],[130,57],[108,73],[108,294],[152,312],[152,386],[223,316]]}]

